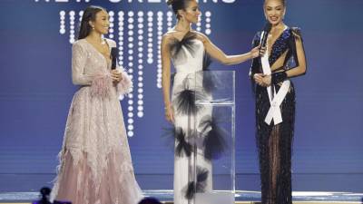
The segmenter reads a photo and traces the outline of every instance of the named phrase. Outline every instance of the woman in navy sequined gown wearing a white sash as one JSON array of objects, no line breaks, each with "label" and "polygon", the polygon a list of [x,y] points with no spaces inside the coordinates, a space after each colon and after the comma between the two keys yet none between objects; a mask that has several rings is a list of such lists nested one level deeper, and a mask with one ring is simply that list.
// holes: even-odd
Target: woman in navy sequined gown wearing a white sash
[{"label": "woman in navy sequined gown wearing a white sash", "polygon": [[[255,58],[250,69],[256,96],[262,204],[292,203],[295,89],[289,78],[305,74],[306,59],[299,28],[290,28],[282,21],[285,11],[284,0],[265,1],[264,12],[272,24],[267,52]],[[260,38],[261,32],[255,35],[253,46],[260,44]],[[266,67],[270,68],[268,74]]]}]

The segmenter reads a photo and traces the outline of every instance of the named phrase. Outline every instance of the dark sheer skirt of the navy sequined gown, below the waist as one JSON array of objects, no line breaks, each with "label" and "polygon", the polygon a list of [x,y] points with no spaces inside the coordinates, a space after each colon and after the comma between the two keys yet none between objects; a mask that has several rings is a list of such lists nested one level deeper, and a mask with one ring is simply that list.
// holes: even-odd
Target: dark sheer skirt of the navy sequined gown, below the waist
[{"label": "dark sheer skirt of the navy sequined gown, below the waist", "polygon": [[[276,91],[280,86],[276,86]],[[270,109],[265,87],[256,89],[256,141],[259,150],[262,204],[291,204],[291,152],[295,121],[295,90],[280,105],[282,122],[268,125],[264,120]]]}]

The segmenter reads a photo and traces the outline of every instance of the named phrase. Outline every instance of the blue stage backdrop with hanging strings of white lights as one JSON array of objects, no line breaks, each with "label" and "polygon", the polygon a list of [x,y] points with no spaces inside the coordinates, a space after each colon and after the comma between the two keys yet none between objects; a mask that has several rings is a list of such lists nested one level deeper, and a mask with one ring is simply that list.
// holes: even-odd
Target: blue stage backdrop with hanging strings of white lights
[{"label": "blue stage backdrop with hanging strings of white lights", "polygon": [[[225,53],[245,53],[264,24],[262,0],[200,0],[201,23]],[[173,152],[164,120],[159,43],[175,19],[164,0],[0,1],[0,191],[50,186],[77,87],[71,47],[80,11],[102,5],[107,36],[133,76],[122,101],[133,165],[142,189],[172,189]],[[289,0],[285,22],[299,26],[308,73],[293,79],[297,120],[294,190],[363,191],[363,1]],[[250,62],[214,70],[237,75],[237,189],[260,189]]]}]

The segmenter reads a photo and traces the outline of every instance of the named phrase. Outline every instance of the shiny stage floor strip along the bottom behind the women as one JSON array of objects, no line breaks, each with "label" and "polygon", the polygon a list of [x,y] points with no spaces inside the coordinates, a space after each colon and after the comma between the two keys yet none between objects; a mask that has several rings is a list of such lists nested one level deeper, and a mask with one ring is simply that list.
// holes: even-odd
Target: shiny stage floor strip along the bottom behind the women
[{"label": "shiny stage floor strip along the bottom behind the women", "polygon": [[[172,202],[172,190],[143,190],[146,197],[154,197],[163,202]],[[38,192],[0,192],[0,203],[28,204],[31,200],[38,199]],[[320,191],[294,191],[292,193],[295,204],[329,204],[329,203],[363,203],[363,193],[353,192],[320,192]],[[258,203],[260,201],[259,191],[237,190],[236,203]]]}]

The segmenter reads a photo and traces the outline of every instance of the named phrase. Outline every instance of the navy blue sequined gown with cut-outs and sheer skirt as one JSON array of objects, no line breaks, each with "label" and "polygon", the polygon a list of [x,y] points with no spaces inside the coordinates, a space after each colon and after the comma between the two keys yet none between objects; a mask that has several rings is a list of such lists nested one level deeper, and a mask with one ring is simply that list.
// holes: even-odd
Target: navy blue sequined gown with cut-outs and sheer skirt
[{"label": "navy blue sequined gown with cut-outs and sheer skirt", "polygon": [[[260,44],[260,35],[253,39],[253,47]],[[270,66],[278,60],[283,65],[272,71],[281,72],[299,66],[296,41],[301,41],[298,28],[287,27],[272,45]],[[280,58],[285,59],[280,59]],[[291,151],[295,121],[295,89],[290,83],[289,92],[280,104],[282,122],[269,124],[265,117],[270,109],[270,100],[266,87],[253,82],[253,74],[263,73],[260,58],[255,58],[250,68],[250,77],[256,97],[256,141],[260,160],[260,181],[262,204],[291,204]],[[273,84],[279,92],[281,83]]]}]

